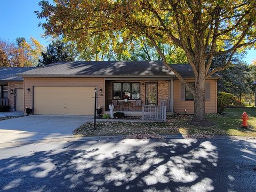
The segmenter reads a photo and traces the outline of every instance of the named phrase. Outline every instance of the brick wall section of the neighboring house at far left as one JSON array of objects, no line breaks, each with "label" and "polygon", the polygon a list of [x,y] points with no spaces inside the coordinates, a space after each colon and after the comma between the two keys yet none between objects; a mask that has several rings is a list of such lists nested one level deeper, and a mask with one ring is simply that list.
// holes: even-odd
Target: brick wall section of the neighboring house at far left
[{"label": "brick wall section of the neighboring house at far left", "polygon": [[23,89],[23,82],[8,82],[8,102],[10,111],[15,110],[15,89]]}]

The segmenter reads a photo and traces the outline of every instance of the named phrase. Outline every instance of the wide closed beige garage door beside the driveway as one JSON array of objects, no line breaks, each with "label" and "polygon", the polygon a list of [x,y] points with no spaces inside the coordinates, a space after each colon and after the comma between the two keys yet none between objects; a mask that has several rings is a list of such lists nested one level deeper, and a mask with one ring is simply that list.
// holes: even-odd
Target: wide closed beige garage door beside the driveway
[{"label": "wide closed beige garage door beside the driveway", "polygon": [[34,87],[34,114],[93,115],[95,87]]}]

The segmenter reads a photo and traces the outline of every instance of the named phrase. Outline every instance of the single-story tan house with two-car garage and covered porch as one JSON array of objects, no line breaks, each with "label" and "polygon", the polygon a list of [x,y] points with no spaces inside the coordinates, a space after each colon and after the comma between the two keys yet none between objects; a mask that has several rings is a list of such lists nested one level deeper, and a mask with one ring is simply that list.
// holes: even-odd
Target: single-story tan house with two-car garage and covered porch
[{"label": "single-story tan house with two-car garage and covered porch", "polygon": [[[194,82],[190,65],[172,65],[188,82]],[[193,95],[162,61],[56,62],[19,75],[24,78],[25,107],[34,114],[93,115],[94,88],[97,106],[105,114],[115,111],[141,114],[142,105],[165,105],[167,114],[194,113]],[[217,80],[206,80],[206,113],[217,113]],[[130,97],[124,102],[124,95]]]}]

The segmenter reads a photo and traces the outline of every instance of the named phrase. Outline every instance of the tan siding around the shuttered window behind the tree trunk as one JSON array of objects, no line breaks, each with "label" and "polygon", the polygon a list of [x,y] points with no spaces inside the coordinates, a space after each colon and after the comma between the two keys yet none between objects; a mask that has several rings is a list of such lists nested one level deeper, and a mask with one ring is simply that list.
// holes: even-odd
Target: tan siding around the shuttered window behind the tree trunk
[{"label": "tan siding around the shuttered window behind the tree trunk", "polygon": [[[193,79],[187,81],[194,82]],[[210,100],[205,101],[205,112],[217,113],[217,80],[207,79],[206,82],[210,83]],[[180,81],[178,79],[173,82],[173,97],[174,113],[184,113],[185,109],[187,114],[194,113],[194,101],[180,100]]]}]

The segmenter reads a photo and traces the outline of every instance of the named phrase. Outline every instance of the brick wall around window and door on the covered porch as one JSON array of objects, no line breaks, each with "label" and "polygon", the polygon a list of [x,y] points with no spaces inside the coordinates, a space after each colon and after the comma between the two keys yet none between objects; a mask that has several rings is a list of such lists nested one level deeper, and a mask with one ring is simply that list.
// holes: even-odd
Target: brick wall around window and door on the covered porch
[{"label": "brick wall around window and door on the covered porch", "polygon": [[[107,110],[108,105],[113,99],[113,83],[140,83],[140,99],[142,100],[142,105],[146,103],[146,83],[157,83],[158,105],[161,105],[161,99],[170,99],[170,81],[106,81],[105,108]],[[130,107],[130,110],[135,110],[135,105]]]}]

